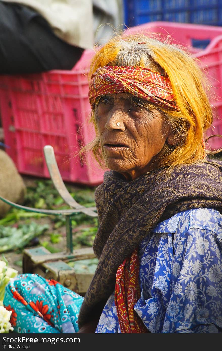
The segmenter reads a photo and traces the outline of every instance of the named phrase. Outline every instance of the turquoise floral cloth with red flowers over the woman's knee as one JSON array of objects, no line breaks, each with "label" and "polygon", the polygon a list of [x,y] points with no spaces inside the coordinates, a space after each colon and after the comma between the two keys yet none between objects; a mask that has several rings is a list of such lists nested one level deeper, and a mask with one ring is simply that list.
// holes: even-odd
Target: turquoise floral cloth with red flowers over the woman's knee
[{"label": "turquoise floral cloth with red flowers over the woman's knee", "polygon": [[53,279],[21,274],[6,286],[3,303],[15,333],[76,333],[82,301]]}]

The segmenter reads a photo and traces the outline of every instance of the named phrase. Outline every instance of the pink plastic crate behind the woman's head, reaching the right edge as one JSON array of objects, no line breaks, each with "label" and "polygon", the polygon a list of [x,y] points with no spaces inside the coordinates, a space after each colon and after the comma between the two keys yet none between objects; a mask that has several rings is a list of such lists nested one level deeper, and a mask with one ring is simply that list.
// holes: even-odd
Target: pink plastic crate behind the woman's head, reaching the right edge
[{"label": "pink plastic crate behind the woman's head, reaching the right edge", "polygon": [[[207,131],[207,136],[222,134],[222,27],[204,26],[174,22],[149,22],[146,24],[130,27],[126,34],[134,33],[158,33],[159,38],[170,36],[171,44],[186,47],[199,61],[201,69],[206,73],[211,84],[210,102],[213,106],[213,125]],[[205,49],[193,47],[195,41],[210,41]],[[222,139],[211,138],[206,147],[210,150],[218,150],[222,147]]]}]

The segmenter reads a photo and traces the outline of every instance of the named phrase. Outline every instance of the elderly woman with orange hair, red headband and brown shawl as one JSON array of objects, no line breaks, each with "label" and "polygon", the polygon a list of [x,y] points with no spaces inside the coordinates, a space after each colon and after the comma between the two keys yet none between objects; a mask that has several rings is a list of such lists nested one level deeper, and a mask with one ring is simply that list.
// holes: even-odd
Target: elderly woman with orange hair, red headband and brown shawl
[{"label": "elderly woman with orange hair, red headband and brown shawl", "polygon": [[99,264],[84,298],[34,274],[10,282],[15,331],[220,333],[222,162],[205,150],[200,69],[140,35],[110,40],[90,77],[90,147],[111,170],[95,191]]}]

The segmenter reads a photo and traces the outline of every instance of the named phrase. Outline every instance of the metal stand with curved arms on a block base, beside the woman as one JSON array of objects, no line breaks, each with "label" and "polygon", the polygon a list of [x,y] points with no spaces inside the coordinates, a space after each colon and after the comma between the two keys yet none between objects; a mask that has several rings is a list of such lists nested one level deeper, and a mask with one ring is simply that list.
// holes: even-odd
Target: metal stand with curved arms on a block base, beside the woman
[{"label": "metal stand with curved arms on a block base, beside the woman", "polygon": [[69,194],[59,168],[56,163],[53,147],[46,145],[44,147],[44,154],[49,174],[53,184],[58,191],[59,195],[69,205],[70,209],[67,210],[45,210],[33,207],[22,206],[8,201],[0,196],[0,200],[16,208],[37,212],[48,215],[58,216],[62,214],[66,218],[66,251],[51,253],[45,247],[35,247],[34,249],[25,249],[23,251],[23,273],[36,273],[47,279],[55,279],[62,285],[84,296],[88,286],[91,282],[93,274],[76,274],[66,262],[72,260],[82,260],[88,258],[95,258],[92,247],[86,249],[73,250],[72,241],[72,216],[73,214],[82,212],[90,217],[97,217],[96,207],[85,207],[76,202]]}]

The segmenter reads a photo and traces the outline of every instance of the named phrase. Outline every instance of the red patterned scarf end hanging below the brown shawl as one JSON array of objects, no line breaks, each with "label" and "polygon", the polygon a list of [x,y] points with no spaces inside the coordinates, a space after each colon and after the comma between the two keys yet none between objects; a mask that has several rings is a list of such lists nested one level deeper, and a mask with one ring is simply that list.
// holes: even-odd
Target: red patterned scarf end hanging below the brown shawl
[{"label": "red patterned scarf end hanging below the brown shawl", "polygon": [[148,333],[134,311],[140,298],[138,249],[126,258],[116,272],[115,306],[121,333]]}]

